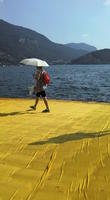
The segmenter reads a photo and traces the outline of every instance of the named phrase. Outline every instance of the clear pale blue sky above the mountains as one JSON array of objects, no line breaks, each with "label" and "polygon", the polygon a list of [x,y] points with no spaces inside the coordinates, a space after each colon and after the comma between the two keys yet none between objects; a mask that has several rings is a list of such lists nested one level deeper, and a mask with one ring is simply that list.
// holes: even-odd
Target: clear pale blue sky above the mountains
[{"label": "clear pale blue sky above the mountains", "polygon": [[110,0],[0,0],[0,18],[53,42],[110,48]]}]

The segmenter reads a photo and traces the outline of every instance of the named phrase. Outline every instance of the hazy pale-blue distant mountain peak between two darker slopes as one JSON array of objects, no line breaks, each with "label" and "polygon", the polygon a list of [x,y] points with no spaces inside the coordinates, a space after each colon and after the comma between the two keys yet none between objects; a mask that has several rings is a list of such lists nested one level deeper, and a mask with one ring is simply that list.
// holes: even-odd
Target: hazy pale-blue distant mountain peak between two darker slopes
[{"label": "hazy pale-blue distant mountain peak between two darker slopes", "polygon": [[71,47],[73,49],[80,49],[80,50],[84,50],[84,51],[87,51],[87,52],[92,52],[92,51],[96,51],[97,48],[94,47],[94,46],[91,46],[89,44],[86,44],[86,43],[68,43],[68,44],[65,44],[67,47]]}]

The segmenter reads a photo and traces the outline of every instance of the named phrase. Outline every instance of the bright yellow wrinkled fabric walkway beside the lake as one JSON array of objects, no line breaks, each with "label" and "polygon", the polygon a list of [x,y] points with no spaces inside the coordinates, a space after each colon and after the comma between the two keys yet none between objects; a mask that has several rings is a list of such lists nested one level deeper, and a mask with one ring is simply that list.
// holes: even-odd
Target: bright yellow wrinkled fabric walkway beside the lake
[{"label": "bright yellow wrinkled fabric walkway beside the lake", "polygon": [[110,104],[0,99],[0,200],[109,200]]}]

